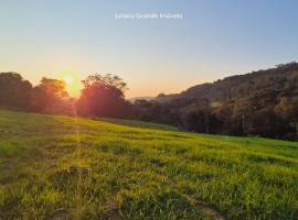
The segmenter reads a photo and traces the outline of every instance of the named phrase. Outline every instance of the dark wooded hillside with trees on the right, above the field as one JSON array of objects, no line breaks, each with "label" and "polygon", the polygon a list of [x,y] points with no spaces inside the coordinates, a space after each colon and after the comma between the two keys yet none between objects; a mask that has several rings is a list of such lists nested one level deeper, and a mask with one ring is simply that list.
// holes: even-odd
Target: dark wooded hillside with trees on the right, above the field
[{"label": "dark wooded hillside with trees on the right, above the field", "polygon": [[[139,120],[188,131],[298,141],[298,64],[231,76],[139,101]],[[206,106],[207,105],[207,106]]]}]

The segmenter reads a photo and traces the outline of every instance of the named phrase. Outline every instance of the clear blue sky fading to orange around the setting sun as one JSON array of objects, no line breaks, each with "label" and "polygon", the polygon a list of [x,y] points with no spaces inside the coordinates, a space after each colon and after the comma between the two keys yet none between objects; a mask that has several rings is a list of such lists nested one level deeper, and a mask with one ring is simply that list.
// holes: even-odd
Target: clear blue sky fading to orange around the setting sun
[{"label": "clear blue sky fading to orange around the setting sun", "polygon": [[297,9],[297,0],[1,0],[0,73],[33,86],[71,75],[71,96],[96,73],[123,78],[126,98],[178,94],[298,62]]}]

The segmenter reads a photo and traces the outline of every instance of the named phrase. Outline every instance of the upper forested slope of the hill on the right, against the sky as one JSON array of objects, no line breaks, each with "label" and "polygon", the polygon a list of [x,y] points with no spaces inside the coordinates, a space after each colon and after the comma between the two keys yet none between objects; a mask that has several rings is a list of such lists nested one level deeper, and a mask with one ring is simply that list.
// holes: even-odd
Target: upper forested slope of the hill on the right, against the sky
[{"label": "upper forested slope of the hill on the right, against the sky", "polygon": [[298,64],[276,65],[275,68],[252,72],[245,75],[235,75],[219,79],[212,84],[202,84],[188,88],[181,94],[159,95],[156,100],[160,102],[179,98],[207,98],[214,102],[227,102],[249,97],[257,92],[297,90]]}]

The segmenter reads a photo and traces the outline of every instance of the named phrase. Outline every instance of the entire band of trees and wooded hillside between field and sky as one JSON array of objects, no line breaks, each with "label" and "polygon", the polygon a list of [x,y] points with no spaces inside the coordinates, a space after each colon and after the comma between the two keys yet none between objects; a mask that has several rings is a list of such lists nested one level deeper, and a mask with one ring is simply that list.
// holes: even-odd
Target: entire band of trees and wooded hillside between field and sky
[{"label": "entire band of trees and wooded hillside between field and sky", "polygon": [[[20,74],[1,73],[0,107],[140,120],[198,133],[298,140],[298,64],[294,62],[195,86],[182,92],[188,96],[167,101],[157,98],[131,103],[125,100],[127,84],[110,74],[91,75],[82,82],[84,88],[76,100],[68,97],[63,80],[43,77],[33,87]],[[195,89],[200,91],[196,95]]]}]

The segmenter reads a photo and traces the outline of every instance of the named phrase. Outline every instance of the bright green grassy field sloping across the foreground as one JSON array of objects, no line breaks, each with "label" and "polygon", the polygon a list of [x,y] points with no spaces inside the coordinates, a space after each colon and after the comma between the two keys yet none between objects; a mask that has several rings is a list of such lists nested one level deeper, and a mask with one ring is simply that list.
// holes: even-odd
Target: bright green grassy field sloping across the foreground
[{"label": "bright green grassy field sloping across the foreground", "polygon": [[0,111],[0,219],[298,219],[298,144]]}]

